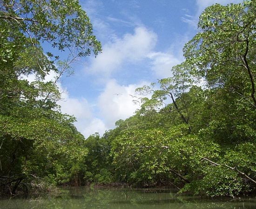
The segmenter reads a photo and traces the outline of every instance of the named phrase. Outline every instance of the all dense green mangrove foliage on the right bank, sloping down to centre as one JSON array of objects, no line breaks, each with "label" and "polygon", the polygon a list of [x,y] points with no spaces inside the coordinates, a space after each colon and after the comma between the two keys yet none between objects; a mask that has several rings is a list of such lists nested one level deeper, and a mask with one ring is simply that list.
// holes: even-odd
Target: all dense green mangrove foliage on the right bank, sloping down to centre
[{"label": "all dense green mangrove foliage on the right bank, sloping down to centre", "polygon": [[198,27],[173,76],[137,89],[151,99],[96,139],[111,150],[94,149],[91,163],[109,155],[102,168],[114,181],[202,196],[256,191],[256,2],[208,7]]}]

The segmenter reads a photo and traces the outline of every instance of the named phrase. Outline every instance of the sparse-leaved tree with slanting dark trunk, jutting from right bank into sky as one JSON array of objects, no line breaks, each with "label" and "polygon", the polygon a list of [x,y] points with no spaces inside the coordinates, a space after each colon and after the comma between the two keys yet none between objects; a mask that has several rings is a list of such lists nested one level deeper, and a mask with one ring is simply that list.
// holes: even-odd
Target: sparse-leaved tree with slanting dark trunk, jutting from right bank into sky
[{"label": "sparse-leaved tree with slanting dark trunk, jutting from right bank into sky", "polygon": [[[143,86],[136,89],[140,94],[153,92],[151,99],[142,98],[140,111],[154,110],[156,108],[159,110],[165,104],[165,108],[161,112],[169,112],[171,114],[172,111],[176,111],[181,121],[189,125],[190,110],[186,92],[196,84],[195,82],[193,83],[192,76],[189,74],[189,67],[186,62],[174,66],[172,68],[172,77],[158,80],[160,89],[154,90],[155,84],[152,87]],[[172,104],[166,104],[168,99],[171,100]],[[190,126],[189,130],[192,131]]]}]

